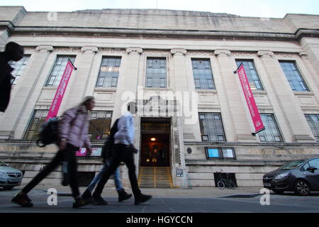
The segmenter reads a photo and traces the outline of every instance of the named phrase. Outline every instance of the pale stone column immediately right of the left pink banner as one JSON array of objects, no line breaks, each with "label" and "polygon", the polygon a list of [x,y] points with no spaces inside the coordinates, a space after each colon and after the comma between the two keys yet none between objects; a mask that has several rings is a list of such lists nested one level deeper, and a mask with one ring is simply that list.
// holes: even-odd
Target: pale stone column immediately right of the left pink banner
[{"label": "pale stone column immediately right of the left pink banner", "polygon": [[58,114],[79,104],[84,96],[92,95],[86,94],[86,87],[89,84],[88,81],[90,79],[91,68],[98,48],[96,46],[84,46],[81,48],[81,51],[82,53],[77,55],[74,62],[77,71],[72,72],[72,83],[68,85],[69,89],[66,90],[65,98],[62,101]]}]

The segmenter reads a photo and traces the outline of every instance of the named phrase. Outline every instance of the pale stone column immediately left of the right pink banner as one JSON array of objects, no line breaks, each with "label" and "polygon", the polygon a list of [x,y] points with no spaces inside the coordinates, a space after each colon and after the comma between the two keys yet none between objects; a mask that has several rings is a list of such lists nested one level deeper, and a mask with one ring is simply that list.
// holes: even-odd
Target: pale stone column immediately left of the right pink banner
[{"label": "pale stone column immediately left of the right pink banner", "polygon": [[[256,138],[252,136],[249,119],[245,108],[245,100],[241,98],[240,84],[236,81],[234,74],[234,62],[230,61],[229,50],[215,50],[214,54],[218,58],[220,70],[221,87],[218,87],[218,98],[220,99],[220,109],[224,128],[231,129],[233,133],[226,135],[228,142],[254,142]],[[226,131],[226,130],[225,130]]]}]

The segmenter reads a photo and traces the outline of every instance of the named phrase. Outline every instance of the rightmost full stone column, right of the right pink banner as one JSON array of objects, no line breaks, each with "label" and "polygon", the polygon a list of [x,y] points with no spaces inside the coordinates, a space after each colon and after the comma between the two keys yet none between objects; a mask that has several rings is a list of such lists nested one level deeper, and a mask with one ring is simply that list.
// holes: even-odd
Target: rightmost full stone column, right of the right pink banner
[{"label": "rightmost full stone column, right of the right pink banner", "polygon": [[[290,138],[286,142],[314,142],[306,129],[307,121],[303,116],[303,111],[297,105],[298,101],[296,101],[296,97],[280,68],[278,60],[274,57],[274,52],[260,50],[257,52],[257,55],[262,60],[269,82],[274,89],[276,99],[279,101],[279,106],[284,113],[284,117],[289,125],[289,131],[293,136],[293,138]],[[280,125],[280,122],[278,123]]]}]

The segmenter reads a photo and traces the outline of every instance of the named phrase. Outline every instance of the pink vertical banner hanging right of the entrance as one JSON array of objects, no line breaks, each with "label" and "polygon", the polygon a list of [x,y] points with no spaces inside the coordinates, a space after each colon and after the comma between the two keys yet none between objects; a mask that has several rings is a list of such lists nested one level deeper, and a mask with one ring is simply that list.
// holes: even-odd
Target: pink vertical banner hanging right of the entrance
[{"label": "pink vertical banner hanging right of the entrance", "polygon": [[240,84],[242,84],[242,91],[244,92],[250,116],[252,117],[252,123],[254,123],[255,132],[252,134],[259,133],[264,130],[264,124],[262,123],[262,118],[260,117],[256,102],[254,101],[254,96],[252,95],[252,89],[250,89],[250,83],[248,82],[244,65],[241,64],[240,67],[238,67],[237,74],[240,78]]}]

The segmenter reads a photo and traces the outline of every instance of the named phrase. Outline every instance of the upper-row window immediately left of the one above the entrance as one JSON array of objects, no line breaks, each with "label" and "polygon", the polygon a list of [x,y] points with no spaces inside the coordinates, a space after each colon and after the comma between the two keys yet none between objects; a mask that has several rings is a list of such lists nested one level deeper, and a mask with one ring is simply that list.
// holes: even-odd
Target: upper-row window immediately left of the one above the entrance
[{"label": "upper-row window immediately left of the one above the entrance", "polygon": [[116,87],[121,57],[103,57],[96,87]]}]

